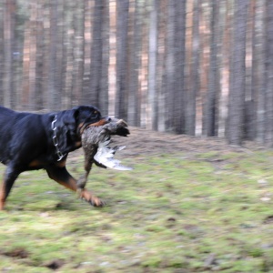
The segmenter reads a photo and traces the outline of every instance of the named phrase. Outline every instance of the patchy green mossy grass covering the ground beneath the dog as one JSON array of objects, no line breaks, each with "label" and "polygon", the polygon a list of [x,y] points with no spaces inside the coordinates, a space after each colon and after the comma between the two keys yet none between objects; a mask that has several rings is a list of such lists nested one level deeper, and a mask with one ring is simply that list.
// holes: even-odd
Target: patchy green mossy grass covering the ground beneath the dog
[{"label": "patchy green mossy grass covering the ground beneath the dog", "polygon": [[[208,151],[94,167],[87,187],[103,208],[25,172],[0,212],[0,271],[273,272],[272,162]],[[67,168],[79,177],[83,157]]]}]

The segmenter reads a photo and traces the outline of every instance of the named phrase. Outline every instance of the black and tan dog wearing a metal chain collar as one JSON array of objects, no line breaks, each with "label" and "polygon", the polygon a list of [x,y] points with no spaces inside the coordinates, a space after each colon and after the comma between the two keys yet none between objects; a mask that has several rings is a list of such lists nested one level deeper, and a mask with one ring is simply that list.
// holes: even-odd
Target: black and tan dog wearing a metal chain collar
[{"label": "black and tan dog wearing a metal chain collar", "polygon": [[[76,191],[76,179],[66,170],[66,157],[81,147],[81,133],[86,126],[103,126],[109,121],[111,118],[101,116],[95,106],[44,115],[0,106],[0,161],[7,166],[0,188],[0,209],[4,209],[15,179],[26,170],[44,168],[50,178]],[[80,197],[95,207],[104,205],[86,189]]]}]

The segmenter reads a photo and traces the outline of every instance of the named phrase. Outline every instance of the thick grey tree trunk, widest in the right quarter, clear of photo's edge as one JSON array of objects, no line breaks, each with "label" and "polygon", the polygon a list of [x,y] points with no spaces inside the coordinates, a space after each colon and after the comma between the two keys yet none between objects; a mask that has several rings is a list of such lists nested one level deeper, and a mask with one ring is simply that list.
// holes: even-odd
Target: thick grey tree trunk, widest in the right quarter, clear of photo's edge
[{"label": "thick grey tree trunk, widest in the right quarter, clear of photo's edge", "polygon": [[247,15],[248,0],[235,1],[227,135],[228,143],[234,145],[241,145],[243,140]]}]

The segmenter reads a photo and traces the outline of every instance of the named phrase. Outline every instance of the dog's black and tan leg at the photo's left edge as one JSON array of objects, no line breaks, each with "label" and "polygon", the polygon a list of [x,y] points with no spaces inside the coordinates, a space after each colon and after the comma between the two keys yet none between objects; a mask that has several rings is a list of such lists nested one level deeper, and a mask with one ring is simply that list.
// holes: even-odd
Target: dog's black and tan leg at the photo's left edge
[{"label": "dog's black and tan leg at the photo's left edge", "polygon": [[5,177],[3,179],[3,184],[0,189],[0,210],[3,210],[5,207],[5,200],[8,197],[11,188],[15,183],[15,179],[19,176],[21,171],[18,171],[12,165],[6,167]]}]

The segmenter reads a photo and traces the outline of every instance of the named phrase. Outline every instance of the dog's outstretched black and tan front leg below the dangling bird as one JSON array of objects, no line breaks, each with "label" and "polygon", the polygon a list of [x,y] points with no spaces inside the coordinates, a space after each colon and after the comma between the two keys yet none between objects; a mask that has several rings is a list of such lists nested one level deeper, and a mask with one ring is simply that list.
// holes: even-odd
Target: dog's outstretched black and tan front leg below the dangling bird
[{"label": "dog's outstretched black and tan front leg below the dangling bird", "polygon": [[[50,166],[45,169],[48,177],[75,192],[77,191],[78,187],[76,186],[76,179],[67,172],[66,167]],[[86,190],[86,188],[80,192],[80,197],[85,199],[86,202],[90,203],[94,207],[103,207],[105,205],[100,198],[93,195],[91,192]]]}]

